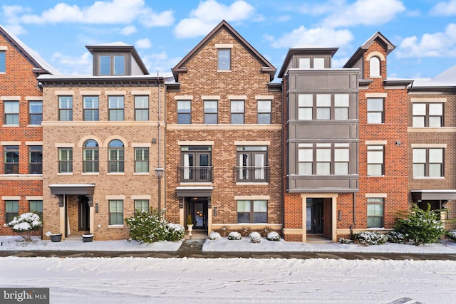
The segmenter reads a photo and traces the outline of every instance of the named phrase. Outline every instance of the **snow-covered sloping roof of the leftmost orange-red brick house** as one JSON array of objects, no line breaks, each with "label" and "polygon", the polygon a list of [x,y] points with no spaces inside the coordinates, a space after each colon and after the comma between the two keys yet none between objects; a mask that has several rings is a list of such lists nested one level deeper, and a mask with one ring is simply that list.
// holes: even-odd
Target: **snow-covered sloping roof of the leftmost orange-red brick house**
[{"label": "snow-covered sloping roof of the leftmost orange-red brick house", "polygon": [[18,49],[20,53],[33,65],[33,72],[38,74],[60,74],[58,70],[53,68],[52,65],[47,63],[36,51],[26,46],[21,39],[17,38],[14,33],[8,31],[4,26],[0,25],[0,35],[11,43],[12,46]]}]

